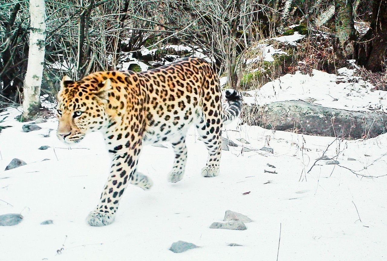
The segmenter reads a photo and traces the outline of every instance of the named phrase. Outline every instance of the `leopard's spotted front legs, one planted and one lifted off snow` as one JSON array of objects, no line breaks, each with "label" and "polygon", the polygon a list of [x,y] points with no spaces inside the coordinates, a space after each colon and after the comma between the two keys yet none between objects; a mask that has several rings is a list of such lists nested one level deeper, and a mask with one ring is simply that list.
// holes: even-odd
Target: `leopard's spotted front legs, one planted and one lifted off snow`
[{"label": "leopard's spotted front legs, one planted and one lifted off snow", "polygon": [[89,225],[104,226],[113,223],[120,198],[128,183],[144,190],[151,188],[152,181],[144,174],[136,172],[140,149],[141,145],[138,142],[137,146],[131,147],[125,153],[118,154],[115,150],[110,175],[104,186],[99,204],[86,218]]}]

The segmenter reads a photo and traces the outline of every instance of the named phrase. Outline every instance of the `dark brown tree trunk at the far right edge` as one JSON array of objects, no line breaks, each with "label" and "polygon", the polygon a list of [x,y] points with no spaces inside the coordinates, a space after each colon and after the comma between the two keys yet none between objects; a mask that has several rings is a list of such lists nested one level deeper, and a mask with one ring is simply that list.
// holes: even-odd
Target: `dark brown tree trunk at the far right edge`
[{"label": "dark brown tree trunk at the far right edge", "polygon": [[358,64],[372,72],[381,72],[387,63],[387,0],[375,0],[368,32],[356,46]]}]

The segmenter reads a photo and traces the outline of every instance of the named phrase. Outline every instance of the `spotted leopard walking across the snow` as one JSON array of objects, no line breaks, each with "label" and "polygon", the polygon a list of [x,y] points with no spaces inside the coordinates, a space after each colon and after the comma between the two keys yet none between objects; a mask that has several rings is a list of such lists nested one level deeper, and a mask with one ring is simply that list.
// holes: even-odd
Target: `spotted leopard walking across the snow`
[{"label": "spotted leopard walking across the snow", "polygon": [[58,92],[57,137],[71,145],[87,133],[100,131],[112,159],[99,203],[86,222],[91,226],[113,223],[129,183],[144,190],[152,187],[152,180],[136,170],[146,144],[171,143],[175,159],[168,181],[180,181],[191,125],[196,126],[208,150],[202,176],[218,176],[222,127],[238,118],[241,104],[239,92],[222,92],[210,63],[196,57],[145,72],[95,72],[78,81],[63,76]]}]

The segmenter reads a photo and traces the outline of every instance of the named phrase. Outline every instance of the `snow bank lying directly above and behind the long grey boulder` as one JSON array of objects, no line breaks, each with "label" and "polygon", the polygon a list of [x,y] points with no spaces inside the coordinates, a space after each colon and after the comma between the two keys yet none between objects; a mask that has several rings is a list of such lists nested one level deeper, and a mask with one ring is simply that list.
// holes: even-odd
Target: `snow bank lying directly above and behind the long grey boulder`
[{"label": "snow bank lying directly above and behind the long grey boulder", "polygon": [[[302,100],[325,107],[354,111],[386,112],[387,93],[371,90],[373,85],[353,76],[353,70],[339,69],[342,75],[334,75],[313,70],[313,76],[296,72],[286,74],[277,80],[268,82],[259,90],[248,91],[251,97],[244,97],[249,104],[264,105],[276,101]],[[356,79],[358,82],[340,82],[336,80]],[[337,99],[337,101],[335,101]],[[386,104],[387,105],[387,104]]]}]

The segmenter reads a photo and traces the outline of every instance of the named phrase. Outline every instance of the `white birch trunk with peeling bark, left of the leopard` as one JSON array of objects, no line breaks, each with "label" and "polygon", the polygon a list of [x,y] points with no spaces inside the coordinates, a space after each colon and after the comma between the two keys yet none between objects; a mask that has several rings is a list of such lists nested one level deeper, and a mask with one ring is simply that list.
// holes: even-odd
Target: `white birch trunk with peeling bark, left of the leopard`
[{"label": "white birch trunk with peeling bark, left of the leopard", "polygon": [[31,29],[26,77],[24,80],[23,119],[34,119],[41,108],[40,86],[43,77],[46,40],[46,13],[44,0],[30,0]]}]

